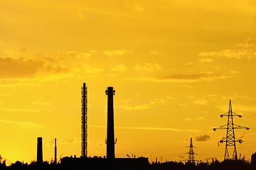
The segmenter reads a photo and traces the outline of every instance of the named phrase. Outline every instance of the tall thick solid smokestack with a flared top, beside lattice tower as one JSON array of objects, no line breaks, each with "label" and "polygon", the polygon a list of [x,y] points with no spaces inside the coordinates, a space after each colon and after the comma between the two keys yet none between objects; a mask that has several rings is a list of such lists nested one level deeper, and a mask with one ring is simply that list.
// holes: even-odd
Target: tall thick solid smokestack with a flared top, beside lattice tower
[{"label": "tall thick solid smokestack with a flared top, beside lattice tower", "polygon": [[114,90],[112,86],[107,87],[107,158],[114,158]]}]

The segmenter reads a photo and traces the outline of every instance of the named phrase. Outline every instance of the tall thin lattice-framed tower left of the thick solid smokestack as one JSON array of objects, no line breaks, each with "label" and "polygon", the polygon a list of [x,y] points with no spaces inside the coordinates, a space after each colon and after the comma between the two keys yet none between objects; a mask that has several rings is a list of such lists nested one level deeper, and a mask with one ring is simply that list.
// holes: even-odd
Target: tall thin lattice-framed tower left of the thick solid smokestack
[{"label": "tall thin lattice-framed tower left of the thick solid smokestack", "polygon": [[87,86],[82,86],[82,157],[87,157]]}]

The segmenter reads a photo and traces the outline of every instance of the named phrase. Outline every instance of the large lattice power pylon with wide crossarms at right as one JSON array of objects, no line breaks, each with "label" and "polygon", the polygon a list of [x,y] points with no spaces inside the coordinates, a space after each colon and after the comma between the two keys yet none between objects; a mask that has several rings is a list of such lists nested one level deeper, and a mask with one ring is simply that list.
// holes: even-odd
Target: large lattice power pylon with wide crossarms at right
[{"label": "large lattice power pylon with wide crossarms at right", "polygon": [[228,116],[228,124],[227,125],[222,125],[218,128],[213,128],[213,130],[217,129],[226,129],[227,130],[227,135],[223,140],[220,140],[220,143],[225,142],[225,155],[224,155],[224,160],[225,159],[230,159],[229,153],[228,153],[228,147],[234,147],[233,151],[233,160],[238,160],[238,153],[235,147],[235,142],[242,143],[242,140],[235,140],[235,129],[246,129],[249,130],[247,127],[242,127],[240,125],[235,125],[233,123],[233,116],[238,116],[238,118],[241,118],[242,115],[238,115],[237,113],[232,112],[232,107],[231,107],[231,100],[229,103],[229,109],[228,113],[224,113],[223,115],[220,115],[220,118],[223,118],[223,116]]}]

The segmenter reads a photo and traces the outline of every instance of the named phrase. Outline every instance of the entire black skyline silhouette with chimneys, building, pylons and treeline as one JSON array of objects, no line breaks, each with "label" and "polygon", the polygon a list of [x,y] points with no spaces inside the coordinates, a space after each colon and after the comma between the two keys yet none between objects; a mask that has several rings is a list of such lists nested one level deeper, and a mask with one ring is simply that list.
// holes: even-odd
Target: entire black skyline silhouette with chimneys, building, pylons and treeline
[{"label": "entire black skyline silhouette with chimneys, building, pylons and treeline", "polygon": [[[43,137],[37,138],[37,159],[31,164],[24,164],[23,162],[16,162],[9,166],[6,161],[0,162],[1,169],[256,169],[256,153],[252,154],[251,162],[245,160],[245,157],[238,158],[236,149],[236,142],[242,143],[242,140],[235,138],[235,129],[249,130],[247,127],[235,125],[233,117],[242,115],[232,111],[231,100],[229,102],[228,113],[220,115],[220,117],[227,116],[227,125],[222,125],[213,130],[225,129],[226,137],[220,140],[220,143],[225,143],[224,159],[220,162],[218,159],[212,159],[211,162],[202,162],[197,160],[193,148],[193,139],[190,138],[190,145],[188,146],[188,159],[183,162],[155,162],[149,163],[146,157],[130,157],[116,158],[114,145],[117,143],[117,138],[114,138],[114,94],[115,90],[112,86],[107,87],[105,94],[107,95],[107,153],[104,157],[89,157],[87,155],[87,86],[82,84],[82,140],[81,140],[81,156],[76,155],[70,157],[63,157],[57,160],[57,139],[55,138],[54,159],[52,162],[43,161]],[[1,157],[1,156],[0,156]]]}]

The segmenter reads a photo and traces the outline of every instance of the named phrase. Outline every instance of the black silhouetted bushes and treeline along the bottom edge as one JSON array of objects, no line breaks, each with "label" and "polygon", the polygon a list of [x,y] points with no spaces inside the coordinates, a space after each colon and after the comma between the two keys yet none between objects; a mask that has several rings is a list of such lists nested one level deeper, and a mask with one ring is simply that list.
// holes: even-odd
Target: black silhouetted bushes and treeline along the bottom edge
[{"label": "black silhouetted bushes and treeline along the bottom edge", "polygon": [[[125,165],[124,165],[125,166]],[[75,167],[75,166],[74,166]],[[8,169],[8,170],[36,170],[36,169],[70,169],[70,166],[63,166],[63,164],[54,164],[53,162],[43,162],[41,164],[37,164],[36,162],[31,162],[31,164],[23,164],[22,162],[15,162],[10,166],[6,166],[6,162],[0,162],[0,169]],[[87,169],[83,167],[83,169]],[[94,169],[97,169],[96,167]],[[102,169],[107,169],[106,167]],[[135,168],[136,169],[136,168]],[[139,169],[142,169],[141,167]],[[144,169],[144,168],[143,168]],[[217,159],[213,159],[211,162],[200,162],[198,164],[188,164],[183,162],[164,162],[164,163],[154,163],[145,167],[145,170],[165,170],[165,169],[173,169],[173,170],[222,170],[222,169],[232,169],[232,170],[252,170],[256,169],[256,164],[250,164],[245,159],[240,159],[238,161],[233,160],[225,160],[223,162],[219,162]],[[120,169],[121,170],[121,169]]]}]

